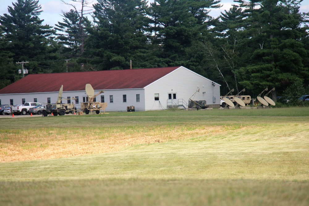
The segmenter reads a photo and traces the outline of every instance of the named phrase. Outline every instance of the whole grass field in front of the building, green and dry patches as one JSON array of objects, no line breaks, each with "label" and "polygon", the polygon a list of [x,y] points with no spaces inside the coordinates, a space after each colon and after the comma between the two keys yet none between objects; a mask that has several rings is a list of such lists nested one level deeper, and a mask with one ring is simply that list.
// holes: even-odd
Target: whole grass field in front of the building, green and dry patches
[{"label": "whole grass field in front of the building, green and dry patches", "polygon": [[0,119],[0,205],[309,205],[309,108]]}]

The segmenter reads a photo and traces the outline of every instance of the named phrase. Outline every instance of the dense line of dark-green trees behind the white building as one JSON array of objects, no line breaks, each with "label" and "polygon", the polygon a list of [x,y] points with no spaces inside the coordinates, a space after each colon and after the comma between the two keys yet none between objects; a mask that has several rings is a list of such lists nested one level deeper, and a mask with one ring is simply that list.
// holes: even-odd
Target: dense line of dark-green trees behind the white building
[{"label": "dense line of dark-green trees behind the white building", "polygon": [[16,62],[37,74],[129,69],[132,61],[133,69],[185,66],[220,83],[222,95],[309,92],[302,0],[235,0],[218,18],[209,12],[219,0],[98,0],[91,19],[88,0],[61,1],[72,9],[55,27],[39,19],[38,0],[17,0],[0,16],[0,88],[22,77]]}]

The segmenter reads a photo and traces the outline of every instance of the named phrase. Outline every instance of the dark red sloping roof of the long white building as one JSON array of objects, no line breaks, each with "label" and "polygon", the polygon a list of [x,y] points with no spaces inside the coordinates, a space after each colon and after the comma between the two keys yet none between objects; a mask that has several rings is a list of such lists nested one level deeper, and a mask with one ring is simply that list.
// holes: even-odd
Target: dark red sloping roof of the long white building
[{"label": "dark red sloping roof of the long white building", "polygon": [[83,91],[85,90],[86,84],[91,84],[94,90],[144,88],[177,68],[179,68],[179,66],[148,69],[29,74],[1,89],[0,94],[57,92],[61,85],[63,85],[63,91]]}]

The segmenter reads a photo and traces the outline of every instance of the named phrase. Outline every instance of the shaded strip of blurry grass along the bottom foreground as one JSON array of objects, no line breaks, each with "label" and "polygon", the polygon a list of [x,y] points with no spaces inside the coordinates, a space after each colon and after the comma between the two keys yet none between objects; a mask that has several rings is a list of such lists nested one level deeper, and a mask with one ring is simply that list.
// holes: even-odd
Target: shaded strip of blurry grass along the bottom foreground
[{"label": "shaded strip of blurry grass along the bottom foreground", "polygon": [[2,205],[308,205],[307,182],[249,179],[87,179],[0,182]]}]

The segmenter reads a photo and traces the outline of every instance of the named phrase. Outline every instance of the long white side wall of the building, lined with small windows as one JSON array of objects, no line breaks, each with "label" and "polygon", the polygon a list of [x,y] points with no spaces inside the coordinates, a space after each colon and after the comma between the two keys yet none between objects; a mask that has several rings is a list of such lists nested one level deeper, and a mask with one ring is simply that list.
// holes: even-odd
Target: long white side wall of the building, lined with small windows
[{"label": "long white side wall of the building, lined with small windows", "polygon": [[[99,91],[95,90],[95,94]],[[10,104],[10,99],[13,99],[14,105],[22,104],[22,99],[25,102],[33,102],[34,98],[37,102],[44,104],[47,103],[47,98],[51,98],[51,103],[56,103],[58,99],[59,92],[48,92],[48,93],[31,93],[31,94],[10,94],[10,95],[0,95],[1,104]],[[140,95],[140,102],[136,102],[136,94]],[[127,111],[128,106],[135,106],[136,111],[145,111],[145,95],[144,89],[127,89],[127,90],[105,90],[104,93],[99,94],[96,97],[97,102],[101,102],[101,95],[104,95],[104,101],[107,103],[107,108],[105,111]],[[113,103],[109,102],[109,95],[113,95]],[[123,102],[122,95],[127,95],[127,102]],[[75,104],[75,100],[71,100],[75,106],[79,109],[80,103],[83,102],[83,97],[86,97],[85,91],[69,91],[63,92],[62,103],[67,103],[67,97],[78,96],[78,104]]]}]

